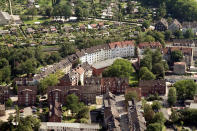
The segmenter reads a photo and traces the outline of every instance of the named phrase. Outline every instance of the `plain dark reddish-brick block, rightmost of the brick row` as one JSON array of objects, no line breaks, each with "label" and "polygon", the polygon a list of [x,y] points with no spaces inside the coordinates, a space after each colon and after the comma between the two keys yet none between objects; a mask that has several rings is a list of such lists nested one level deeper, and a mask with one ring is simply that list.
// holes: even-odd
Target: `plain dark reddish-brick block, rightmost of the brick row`
[{"label": "plain dark reddish-brick block, rightmost of the brick row", "polygon": [[141,80],[139,87],[142,90],[142,96],[149,96],[150,94],[165,95],[166,81],[165,80]]}]

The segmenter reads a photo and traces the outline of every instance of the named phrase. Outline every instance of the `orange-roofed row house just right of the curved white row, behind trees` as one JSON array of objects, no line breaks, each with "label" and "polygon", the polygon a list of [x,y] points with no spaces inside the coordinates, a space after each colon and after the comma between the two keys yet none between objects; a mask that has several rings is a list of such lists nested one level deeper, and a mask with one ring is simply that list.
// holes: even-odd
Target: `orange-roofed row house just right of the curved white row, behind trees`
[{"label": "orange-roofed row house just right of the curved white row, behind trees", "polygon": [[144,51],[150,48],[155,51],[156,49],[162,49],[162,45],[160,42],[143,42],[138,45],[138,53],[139,55],[143,55]]}]

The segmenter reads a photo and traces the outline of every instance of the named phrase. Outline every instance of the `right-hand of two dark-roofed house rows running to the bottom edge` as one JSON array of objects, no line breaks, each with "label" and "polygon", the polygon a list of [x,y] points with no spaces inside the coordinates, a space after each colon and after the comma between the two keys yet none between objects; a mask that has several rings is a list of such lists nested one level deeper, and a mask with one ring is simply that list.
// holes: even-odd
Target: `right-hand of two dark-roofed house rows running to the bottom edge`
[{"label": "right-hand of two dark-roofed house rows running to the bottom edge", "polygon": [[145,131],[146,121],[134,100],[128,101],[128,118],[130,131]]}]

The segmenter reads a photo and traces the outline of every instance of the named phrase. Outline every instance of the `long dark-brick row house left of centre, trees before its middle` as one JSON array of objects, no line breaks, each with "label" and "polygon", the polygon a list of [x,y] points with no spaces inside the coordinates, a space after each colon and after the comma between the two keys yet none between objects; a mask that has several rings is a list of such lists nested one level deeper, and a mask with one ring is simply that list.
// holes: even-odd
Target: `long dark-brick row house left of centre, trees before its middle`
[{"label": "long dark-brick row house left of centre, trees before its middle", "polygon": [[99,86],[50,86],[47,89],[48,103],[55,101],[65,104],[66,96],[75,94],[85,104],[95,104],[96,96],[100,95]]}]

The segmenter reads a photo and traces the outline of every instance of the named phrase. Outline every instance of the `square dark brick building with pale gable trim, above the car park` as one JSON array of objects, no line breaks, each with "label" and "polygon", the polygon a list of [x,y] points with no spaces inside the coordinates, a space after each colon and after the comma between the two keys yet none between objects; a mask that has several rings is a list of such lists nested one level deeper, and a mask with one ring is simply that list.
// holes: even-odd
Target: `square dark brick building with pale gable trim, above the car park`
[{"label": "square dark brick building with pale gable trim, above the car park", "polygon": [[36,103],[37,86],[19,86],[18,87],[18,104],[34,105]]}]

